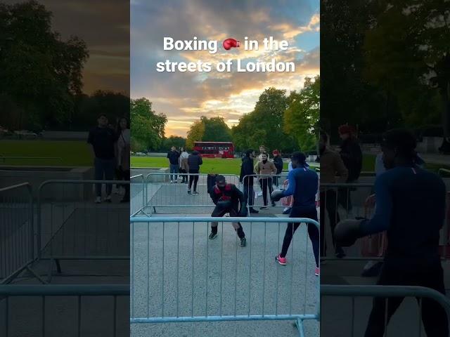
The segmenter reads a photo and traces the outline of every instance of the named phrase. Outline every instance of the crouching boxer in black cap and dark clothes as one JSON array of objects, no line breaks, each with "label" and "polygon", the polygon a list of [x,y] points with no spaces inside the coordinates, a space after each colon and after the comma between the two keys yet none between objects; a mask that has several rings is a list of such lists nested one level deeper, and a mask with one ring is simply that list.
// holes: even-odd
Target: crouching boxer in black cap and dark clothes
[{"label": "crouching boxer in black cap and dark clothes", "polygon": [[[227,184],[224,176],[217,176],[216,185],[212,187],[211,191],[212,202],[216,205],[212,211],[212,217],[222,217],[225,213],[230,213],[230,216],[247,216],[247,203],[245,202],[244,194],[240,192],[238,187],[233,184]],[[215,239],[217,237],[217,222],[211,223],[211,234],[209,238]],[[233,223],[234,230],[240,239],[240,246],[245,247],[247,239],[240,223]]]}]

